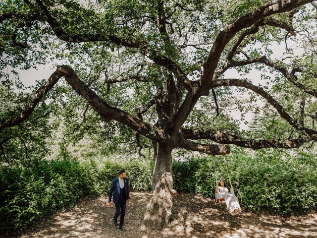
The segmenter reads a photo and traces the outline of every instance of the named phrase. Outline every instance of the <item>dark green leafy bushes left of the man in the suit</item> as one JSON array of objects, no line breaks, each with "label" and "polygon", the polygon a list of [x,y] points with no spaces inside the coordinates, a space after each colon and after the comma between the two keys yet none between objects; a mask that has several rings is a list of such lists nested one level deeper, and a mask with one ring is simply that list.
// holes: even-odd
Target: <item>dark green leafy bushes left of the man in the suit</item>
[{"label": "dark green leafy bushes left of the man in the suit", "polygon": [[102,191],[96,164],[42,161],[33,167],[0,168],[0,232],[19,230],[34,220]]}]

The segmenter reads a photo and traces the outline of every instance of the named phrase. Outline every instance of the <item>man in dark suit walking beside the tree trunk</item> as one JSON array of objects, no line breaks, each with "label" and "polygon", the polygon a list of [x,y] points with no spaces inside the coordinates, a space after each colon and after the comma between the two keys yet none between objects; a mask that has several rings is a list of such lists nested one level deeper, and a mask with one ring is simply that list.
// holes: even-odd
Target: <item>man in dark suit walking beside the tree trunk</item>
[{"label": "man in dark suit walking beside the tree trunk", "polygon": [[129,195],[129,181],[125,178],[125,171],[119,171],[119,177],[115,178],[111,182],[111,187],[109,190],[108,205],[111,206],[111,197],[113,194],[113,203],[115,205],[115,214],[113,217],[113,223],[115,226],[118,225],[117,218],[120,215],[119,229],[121,231],[126,231],[123,228],[124,215],[125,215],[125,205],[126,202],[130,203]]}]

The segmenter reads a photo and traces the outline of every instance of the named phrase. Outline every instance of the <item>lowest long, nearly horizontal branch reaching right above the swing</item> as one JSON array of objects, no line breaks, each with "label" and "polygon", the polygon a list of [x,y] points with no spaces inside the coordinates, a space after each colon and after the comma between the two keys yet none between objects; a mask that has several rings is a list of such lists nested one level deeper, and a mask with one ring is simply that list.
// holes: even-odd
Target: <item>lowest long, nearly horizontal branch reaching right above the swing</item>
[{"label": "lowest long, nearly horizontal branch reaching right above the swing", "polygon": [[317,140],[316,135],[308,138],[297,139],[243,139],[234,134],[228,134],[221,131],[203,130],[203,129],[181,129],[181,135],[185,139],[201,140],[208,139],[220,144],[234,144],[240,147],[251,148],[254,150],[263,148],[299,148],[306,142]]}]

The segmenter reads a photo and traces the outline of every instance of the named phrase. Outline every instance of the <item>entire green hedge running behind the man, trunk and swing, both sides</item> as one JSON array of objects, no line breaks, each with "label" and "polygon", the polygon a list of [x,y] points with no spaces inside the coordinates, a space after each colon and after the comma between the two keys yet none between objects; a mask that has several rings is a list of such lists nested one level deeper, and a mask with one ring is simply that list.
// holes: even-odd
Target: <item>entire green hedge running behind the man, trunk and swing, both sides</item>
[{"label": "entire green hedge running behind the man, trunk and swing, both sides", "polygon": [[[241,206],[280,215],[317,211],[317,161],[314,155],[261,150],[250,156],[232,151],[226,162]],[[216,167],[216,170],[215,170]],[[0,167],[0,232],[25,228],[79,198],[107,193],[118,171],[126,170],[131,190],[152,187],[152,160],[40,161],[33,166]],[[213,197],[215,181],[228,176],[222,156],[173,161],[174,188]]]}]

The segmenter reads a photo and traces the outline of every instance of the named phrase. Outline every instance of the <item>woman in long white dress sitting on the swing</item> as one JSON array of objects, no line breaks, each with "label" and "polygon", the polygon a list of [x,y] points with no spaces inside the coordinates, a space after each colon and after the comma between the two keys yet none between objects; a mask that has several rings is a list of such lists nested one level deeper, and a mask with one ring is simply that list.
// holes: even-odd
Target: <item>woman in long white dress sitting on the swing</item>
[{"label": "woman in long white dress sitting on the swing", "polygon": [[234,195],[234,190],[231,185],[231,189],[226,187],[226,183],[223,179],[220,179],[219,185],[216,182],[216,190],[215,190],[215,198],[218,200],[224,200],[226,202],[226,205],[229,209],[229,214],[231,215],[237,215],[239,212],[241,212],[240,204],[238,201],[238,198]]}]

